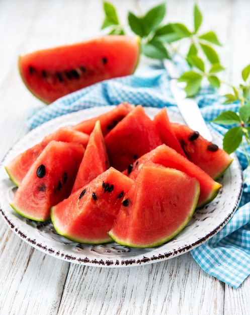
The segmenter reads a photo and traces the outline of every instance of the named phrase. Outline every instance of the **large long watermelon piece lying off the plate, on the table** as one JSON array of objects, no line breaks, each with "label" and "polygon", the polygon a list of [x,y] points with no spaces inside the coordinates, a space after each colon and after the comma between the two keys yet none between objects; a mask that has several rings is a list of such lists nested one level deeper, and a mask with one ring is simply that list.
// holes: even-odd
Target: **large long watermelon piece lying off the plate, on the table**
[{"label": "large long watermelon piece lying off the plate, on the table", "polygon": [[134,72],[138,37],[109,35],[19,57],[24,84],[45,103],[94,83]]}]

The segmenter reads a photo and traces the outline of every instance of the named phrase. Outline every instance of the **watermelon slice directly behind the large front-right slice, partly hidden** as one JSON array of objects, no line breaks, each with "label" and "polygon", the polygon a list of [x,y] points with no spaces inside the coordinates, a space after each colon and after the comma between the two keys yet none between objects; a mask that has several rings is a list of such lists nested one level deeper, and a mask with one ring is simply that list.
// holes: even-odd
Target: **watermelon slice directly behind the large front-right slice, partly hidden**
[{"label": "watermelon slice directly behind the large front-right slice, partly hidden", "polygon": [[215,182],[208,174],[201,170],[197,165],[190,162],[186,157],[178,153],[173,148],[162,144],[154,150],[141,156],[134,162],[131,173],[127,171],[124,174],[135,180],[143,164],[152,162],[164,167],[177,169],[196,178],[200,183],[200,196],[197,207],[202,207],[212,201],[218,194],[221,184]]}]

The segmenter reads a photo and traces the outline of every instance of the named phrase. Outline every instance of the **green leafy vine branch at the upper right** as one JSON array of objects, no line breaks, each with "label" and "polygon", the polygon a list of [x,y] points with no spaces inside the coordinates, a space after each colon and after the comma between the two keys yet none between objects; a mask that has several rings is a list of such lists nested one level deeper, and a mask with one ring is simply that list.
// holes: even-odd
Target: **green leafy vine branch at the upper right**
[{"label": "green leafy vine branch at the upper right", "polygon": [[[108,34],[125,34],[125,28],[120,24],[116,9],[104,2],[105,20],[102,29],[108,29]],[[172,59],[179,54],[187,61],[190,69],[181,74],[179,81],[185,82],[185,92],[188,97],[196,95],[206,80],[211,87],[219,89],[227,85],[232,92],[224,95],[224,104],[239,103],[238,112],[225,111],[212,122],[231,126],[223,138],[223,148],[228,153],[235,151],[240,144],[250,165],[243,143],[250,144],[250,64],[241,72],[243,83],[238,87],[224,82],[219,72],[225,68],[220,62],[217,47],[222,46],[213,31],[200,33],[203,16],[198,6],[194,5],[193,29],[183,23],[165,23],[166,5],[159,4],[145,14],[135,15],[128,12],[128,26],[141,39],[141,52],[154,59]],[[181,47],[181,48],[180,48]],[[186,51],[183,48],[186,47]]]}]

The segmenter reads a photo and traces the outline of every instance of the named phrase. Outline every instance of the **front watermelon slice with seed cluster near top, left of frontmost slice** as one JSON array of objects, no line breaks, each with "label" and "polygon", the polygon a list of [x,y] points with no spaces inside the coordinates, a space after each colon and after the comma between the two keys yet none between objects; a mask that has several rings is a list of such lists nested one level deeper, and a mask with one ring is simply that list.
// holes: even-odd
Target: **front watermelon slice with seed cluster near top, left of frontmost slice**
[{"label": "front watermelon slice with seed cluster near top, left of frontmost slice", "polygon": [[107,232],[133,180],[114,168],[93,179],[51,208],[56,231],[66,238],[88,244],[111,242]]}]

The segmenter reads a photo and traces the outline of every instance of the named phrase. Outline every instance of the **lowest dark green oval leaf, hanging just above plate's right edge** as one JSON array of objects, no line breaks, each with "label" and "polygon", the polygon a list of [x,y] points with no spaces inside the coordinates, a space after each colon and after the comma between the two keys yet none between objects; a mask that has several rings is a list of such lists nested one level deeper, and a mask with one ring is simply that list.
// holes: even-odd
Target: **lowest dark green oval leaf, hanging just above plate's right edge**
[{"label": "lowest dark green oval leaf, hanging just above plate's right edge", "polygon": [[223,138],[223,149],[228,153],[234,152],[240,145],[242,141],[242,128],[233,127],[229,129]]}]

